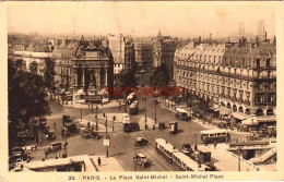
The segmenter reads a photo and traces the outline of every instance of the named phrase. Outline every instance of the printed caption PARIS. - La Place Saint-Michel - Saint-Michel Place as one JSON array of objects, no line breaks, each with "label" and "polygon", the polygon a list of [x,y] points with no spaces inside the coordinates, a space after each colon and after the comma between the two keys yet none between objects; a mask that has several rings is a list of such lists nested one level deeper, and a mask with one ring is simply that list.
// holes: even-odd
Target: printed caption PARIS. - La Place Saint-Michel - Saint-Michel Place
[{"label": "printed caption PARIS. - La Place Saint-Michel - Saint-Michel Place", "polygon": [[[185,180],[185,179],[224,179],[223,174],[121,174],[121,175],[109,175],[108,180],[167,180],[167,179],[176,179],[176,180]],[[100,180],[99,175],[84,175],[83,180]]]}]

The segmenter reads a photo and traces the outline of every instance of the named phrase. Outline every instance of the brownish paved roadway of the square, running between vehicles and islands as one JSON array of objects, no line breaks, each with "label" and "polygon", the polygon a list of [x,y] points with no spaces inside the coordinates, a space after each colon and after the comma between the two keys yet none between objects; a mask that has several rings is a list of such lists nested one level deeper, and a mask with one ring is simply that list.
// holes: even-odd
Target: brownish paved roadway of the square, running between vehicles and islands
[{"label": "brownish paved roadway of the square, running between vehicles and islands", "polygon": [[[140,101],[140,111],[137,116],[131,116],[131,121],[139,121],[141,118],[143,119],[145,116],[145,105],[147,107],[147,118],[154,120],[155,118],[155,109],[154,109],[154,100],[153,98],[149,98],[146,104],[145,101]],[[62,129],[62,114],[69,114],[73,118],[73,120],[81,119],[81,109],[61,106],[57,102],[51,104],[52,114],[47,117],[48,125],[54,128],[54,123],[56,123],[56,136],[55,141],[63,141],[64,138],[61,135]],[[115,108],[103,108],[98,110],[98,123],[102,128],[105,124],[105,120],[103,120],[103,113],[106,116],[120,116],[125,111],[125,108],[121,107],[119,110],[118,107]],[[82,109],[82,118],[83,120],[95,121],[94,117],[91,116],[91,108]],[[94,112],[95,114],[95,112]],[[165,122],[168,128],[168,122],[178,121],[174,114],[174,112],[168,111],[167,109],[162,108],[159,105],[156,107],[156,116],[157,122]],[[109,117],[111,118],[111,117]],[[189,143],[191,146],[194,146],[196,143],[196,133],[198,134],[197,144],[201,144],[200,131],[204,130],[203,126],[189,121],[179,121],[178,123],[178,134],[169,134],[168,129],[165,130],[142,130],[139,132],[125,133],[122,131],[122,123],[115,122],[114,124],[115,132],[108,133],[110,136],[110,147],[109,147],[109,156],[117,158],[119,163],[126,171],[133,171],[135,169],[133,162],[133,155],[135,153],[142,153],[147,156],[150,160],[152,160],[152,166],[150,168],[142,168],[140,166],[137,167],[138,171],[175,171],[176,169],[170,166],[166,160],[163,159],[155,151],[155,138],[162,137],[166,141],[170,142],[175,147],[181,149],[184,143]],[[108,131],[113,129],[113,121],[108,121]],[[100,134],[105,136],[105,130],[100,130]],[[134,142],[137,137],[143,136],[149,139],[149,144],[146,146],[134,146]],[[40,134],[43,139],[43,145],[47,146],[50,142],[45,138],[44,134]],[[244,138],[244,134],[232,134],[233,138]],[[78,156],[78,155],[106,155],[106,147],[103,145],[103,139],[88,138],[85,139],[80,136],[80,134],[73,134],[67,138],[69,142],[68,146],[68,156]],[[39,149],[36,151],[31,151],[33,160],[40,160],[44,157],[44,150]],[[54,158],[55,154],[50,154],[48,158]]]}]

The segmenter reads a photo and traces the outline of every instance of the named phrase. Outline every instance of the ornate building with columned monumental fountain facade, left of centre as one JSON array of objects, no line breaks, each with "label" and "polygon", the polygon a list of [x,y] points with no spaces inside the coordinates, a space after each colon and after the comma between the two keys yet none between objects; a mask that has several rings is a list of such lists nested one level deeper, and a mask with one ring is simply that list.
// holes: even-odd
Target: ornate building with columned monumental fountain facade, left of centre
[{"label": "ornate building with columned monumental fountain facade, left of centre", "polygon": [[[107,40],[62,40],[52,52],[61,88],[85,89],[113,86],[114,60]],[[105,46],[103,46],[105,45]]]}]

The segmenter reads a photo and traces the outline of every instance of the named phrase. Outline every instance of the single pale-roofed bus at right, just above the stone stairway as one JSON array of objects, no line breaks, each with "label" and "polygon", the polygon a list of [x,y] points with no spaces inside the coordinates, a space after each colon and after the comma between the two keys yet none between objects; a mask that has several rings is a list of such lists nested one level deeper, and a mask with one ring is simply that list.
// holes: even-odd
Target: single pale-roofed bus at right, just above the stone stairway
[{"label": "single pale-roofed bus at right, just above the stone stairway", "polygon": [[230,135],[227,130],[204,130],[201,131],[201,139],[203,143],[214,143],[214,142],[229,142]]}]

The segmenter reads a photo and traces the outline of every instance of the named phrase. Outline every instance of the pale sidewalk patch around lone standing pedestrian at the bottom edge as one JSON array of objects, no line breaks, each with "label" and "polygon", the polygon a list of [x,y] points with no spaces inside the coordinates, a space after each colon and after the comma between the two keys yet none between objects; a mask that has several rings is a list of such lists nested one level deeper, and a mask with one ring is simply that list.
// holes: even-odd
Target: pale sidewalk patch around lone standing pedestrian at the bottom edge
[{"label": "pale sidewalk patch around lone standing pedestrian at the bottom edge", "polygon": [[[98,166],[97,158],[100,158],[102,165]],[[106,156],[90,156],[90,159],[95,165],[98,172],[125,172],[126,170],[121,167],[115,157]]]}]

